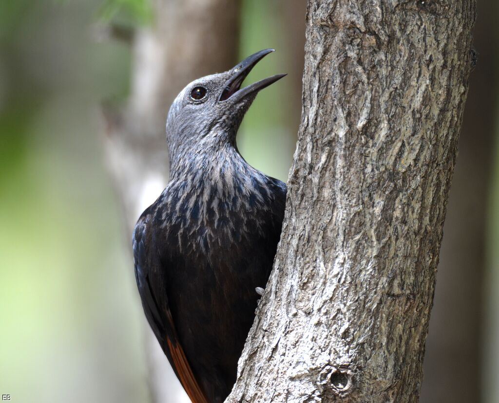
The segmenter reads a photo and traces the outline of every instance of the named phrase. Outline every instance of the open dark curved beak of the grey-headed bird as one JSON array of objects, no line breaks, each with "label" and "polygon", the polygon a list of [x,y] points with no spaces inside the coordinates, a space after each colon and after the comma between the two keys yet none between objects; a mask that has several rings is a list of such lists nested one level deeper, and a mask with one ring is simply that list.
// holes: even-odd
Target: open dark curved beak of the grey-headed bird
[{"label": "open dark curved beak of the grey-headed bird", "polygon": [[224,102],[231,99],[234,103],[242,100],[249,94],[257,93],[270,84],[275,83],[277,80],[285,76],[285,74],[277,74],[272,77],[264,78],[263,80],[257,81],[256,83],[250,84],[248,87],[241,89],[241,85],[245,78],[250,74],[251,69],[258,63],[264,56],[273,52],[274,49],[263,49],[259,52],[252,54],[247,57],[236,67],[234,67],[231,72],[233,76],[227,80],[225,83],[224,91],[220,95],[219,102]]}]

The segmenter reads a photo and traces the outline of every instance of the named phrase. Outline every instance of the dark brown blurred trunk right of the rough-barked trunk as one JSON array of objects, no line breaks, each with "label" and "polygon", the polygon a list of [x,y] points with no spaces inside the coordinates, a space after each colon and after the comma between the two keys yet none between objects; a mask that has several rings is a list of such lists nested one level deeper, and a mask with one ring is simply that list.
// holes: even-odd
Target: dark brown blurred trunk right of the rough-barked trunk
[{"label": "dark brown blurred trunk right of the rough-barked trunk", "polygon": [[[421,402],[481,402],[483,279],[496,124],[497,1],[479,0],[470,78],[426,343]],[[496,374],[497,375],[497,374]]]}]

